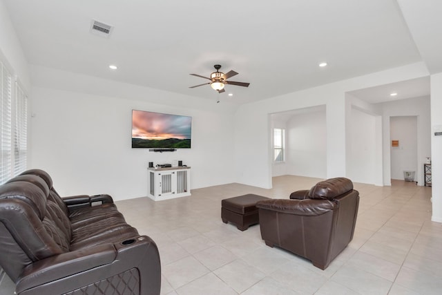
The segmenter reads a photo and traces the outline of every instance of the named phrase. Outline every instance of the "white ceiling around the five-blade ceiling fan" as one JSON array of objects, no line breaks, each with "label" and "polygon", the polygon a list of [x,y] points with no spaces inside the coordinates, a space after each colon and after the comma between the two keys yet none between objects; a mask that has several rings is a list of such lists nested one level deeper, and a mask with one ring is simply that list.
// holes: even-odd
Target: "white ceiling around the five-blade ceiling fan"
[{"label": "white ceiling around the five-blade ceiling fan", "polygon": [[[189,73],[214,64],[251,83],[221,94],[245,103],[422,61],[396,0],[0,1],[30,64],[208,99],[218,93],[189,88],[206,82]],[[111,37],[91,34],[93,19]]]}]

